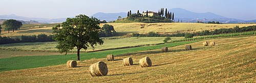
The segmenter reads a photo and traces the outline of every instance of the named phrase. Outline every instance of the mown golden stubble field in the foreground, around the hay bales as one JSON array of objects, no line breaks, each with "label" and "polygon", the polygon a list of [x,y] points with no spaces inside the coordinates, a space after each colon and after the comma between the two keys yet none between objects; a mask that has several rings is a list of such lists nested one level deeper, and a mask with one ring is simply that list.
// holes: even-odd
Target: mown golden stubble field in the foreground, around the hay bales
[{"label": "mown golden stubble field in the foreground, around the hay bales", "polygon": [[[203,42],[216,46],[204,47]],[[191,45],[192,50],[185,50]],[[0,82],[255,82],[256,36],[208,39],[176,47],[115,56],[115,61],[90,59],[75,68],[66,64],[0,72]],[[151,67],[140,67],[139,59],[149,57]],[[131,57],[134,65],[123,66],[122,59]],[[106,76],[92,77],[89,66],[103,61]],[[15,61],[13,61],[15,62]],[[11,66],[11,65],[10,65]]]}]

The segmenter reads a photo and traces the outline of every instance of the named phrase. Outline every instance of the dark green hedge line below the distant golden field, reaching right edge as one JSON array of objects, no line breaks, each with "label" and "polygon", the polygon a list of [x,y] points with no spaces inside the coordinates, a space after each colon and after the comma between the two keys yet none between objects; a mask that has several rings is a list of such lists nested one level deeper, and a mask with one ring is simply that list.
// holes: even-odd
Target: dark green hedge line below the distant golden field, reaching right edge
[{"label": "dark green hedge line below the distant golden field, reaching right edge", "polygon": [[[247,32],[247,31],[256,31],[256,25],[253,26],[247,26],[247,27],[241,27],[236,26],[234,28],[222,28],[222,29],[215,29],[214,31],[204,30],[199,32],[193,32],[188,33],[187,32],[187,38],[193,37],[193,36],[203,36],[203,35],[215,35],[215,34],[224,34],[224,33],[238,33],[238,32]],[[157,34],[155,32],[149,32],[148,34],[139,34],[139,33],[133,33],[133,37],[180,37],[185,36],[186,33],[184,32],[178,32],[176,34]]]}]

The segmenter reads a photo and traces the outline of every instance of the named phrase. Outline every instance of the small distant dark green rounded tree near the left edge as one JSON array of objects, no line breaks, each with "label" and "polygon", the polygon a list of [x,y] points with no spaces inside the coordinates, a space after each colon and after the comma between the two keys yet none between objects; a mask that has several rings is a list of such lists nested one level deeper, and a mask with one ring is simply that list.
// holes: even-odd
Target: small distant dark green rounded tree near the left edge
[{"label": "small distant dark green rounded tree near the left edge", "polygon": [[9,33],[10,30],[14,32],[14,30],[17,30],[20,27],[22,27],[22,22],[16,21],[14,19],[10,19],[10,20],[4,21],[3,25],[5,25],[5,30],[8,30],[8,33]]}]

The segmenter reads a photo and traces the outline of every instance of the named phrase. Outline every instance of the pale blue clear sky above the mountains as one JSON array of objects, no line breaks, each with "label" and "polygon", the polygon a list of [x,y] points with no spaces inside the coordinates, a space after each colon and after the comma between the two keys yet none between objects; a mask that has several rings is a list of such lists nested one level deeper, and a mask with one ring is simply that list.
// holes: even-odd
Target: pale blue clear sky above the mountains
[{"label": "pale blue clear sky above the mountains", "polygon": [[[191,12],[211,12],[240,20],[256,19],[256,0],[1,0],[0,15],[30,18],[68,18],[79,14],[155,11],[182,8]],[[1,18],[0,18],[1,19]]]}]

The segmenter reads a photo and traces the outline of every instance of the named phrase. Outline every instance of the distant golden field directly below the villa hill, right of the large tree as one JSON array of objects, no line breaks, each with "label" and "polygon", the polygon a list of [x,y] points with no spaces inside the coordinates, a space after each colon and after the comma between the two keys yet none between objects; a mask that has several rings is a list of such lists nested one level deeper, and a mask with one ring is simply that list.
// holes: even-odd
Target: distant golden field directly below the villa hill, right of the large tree
[{"label": "distant golden field directly below the villa hill, right of the large tree", "polygon": [[[255,24],[203,24],[203,23],[107,23],[113,25],[117,32],[130,33],[175,33],[175,32],[197,32],[203,30],[214,30],[221,28],[233,28],[236,26],[252,26]],[[102,27],[104,23],[100,24]]]}]

